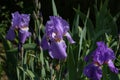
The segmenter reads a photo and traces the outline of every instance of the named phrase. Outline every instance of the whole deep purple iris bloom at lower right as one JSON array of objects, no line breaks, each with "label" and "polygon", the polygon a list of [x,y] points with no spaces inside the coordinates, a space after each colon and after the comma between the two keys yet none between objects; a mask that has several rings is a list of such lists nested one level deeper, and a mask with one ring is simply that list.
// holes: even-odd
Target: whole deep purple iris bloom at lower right
[{"label": "whole deep purple iris bloom at lower right", "polygon": [[97,42],[96,50],[91,55],[86,56],[85,60],[88,61],[90,58],[93,62],[84,68],[84,74],[92,80],[101,79],[103,64],[107,64],[112,72],[119,72],[112,62],[115,59],[113,50],[108,48],[102,41]]}]

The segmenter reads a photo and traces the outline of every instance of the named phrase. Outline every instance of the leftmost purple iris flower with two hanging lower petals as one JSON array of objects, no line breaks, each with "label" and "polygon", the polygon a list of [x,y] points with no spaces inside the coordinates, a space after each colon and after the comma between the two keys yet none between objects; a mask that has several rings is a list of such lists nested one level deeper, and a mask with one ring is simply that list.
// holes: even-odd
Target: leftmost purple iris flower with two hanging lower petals
[{"label": "leftmost purple iris flower with two hanging lower petals", "polygon": [[6,39],[14,40],[15,30],[18,30],[20,43],[25,43],[26,38],[31,35],[28,31],[29,21],[30,15],[28,14],[19,14],[19,12],[12,13],[12,25],[8,30]]}]

